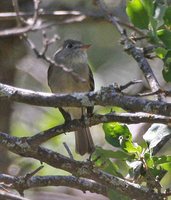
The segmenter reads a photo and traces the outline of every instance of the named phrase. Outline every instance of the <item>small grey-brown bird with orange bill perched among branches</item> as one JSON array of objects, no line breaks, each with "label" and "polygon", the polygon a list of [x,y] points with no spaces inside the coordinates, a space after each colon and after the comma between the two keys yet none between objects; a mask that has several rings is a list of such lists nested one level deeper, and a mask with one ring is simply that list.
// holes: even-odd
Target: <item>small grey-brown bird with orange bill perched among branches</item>
[{"label": "small grey-brown bird with orange bill perched among branches", "polygon": [[[63,46],[54,54],[56,65],[51,64],[48,69],[48,85],[53,93],[94,90],[93,74],[86,52],[90,46],[71,39],[64,41]],[[65,67],[65,70],[61,66]],[[80,119],[86,113],[85,108],[65,107],[59,110],[64,118],[66,113],[69,113],[71,119]],[[92,107],[87,108],[87,113],[92,114],[92,112]],[[79,127],[75,132],[75,149],[80,155],[94,151],[94,143],[88,127]]]}]

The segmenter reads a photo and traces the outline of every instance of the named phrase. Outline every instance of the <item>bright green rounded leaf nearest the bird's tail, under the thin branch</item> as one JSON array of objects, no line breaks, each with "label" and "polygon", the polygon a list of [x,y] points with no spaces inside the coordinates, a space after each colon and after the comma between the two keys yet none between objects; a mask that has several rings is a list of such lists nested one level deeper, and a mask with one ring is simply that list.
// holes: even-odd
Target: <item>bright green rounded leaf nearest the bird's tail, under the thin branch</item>
[{"label": "bright green rounded leaf nearest the bird's tail, under the thin branch", "polygon": [[114,147],[121,147],[120,137],[132,140],[128,127],[118,122],[104,123],[103,130],[106,141]]}]

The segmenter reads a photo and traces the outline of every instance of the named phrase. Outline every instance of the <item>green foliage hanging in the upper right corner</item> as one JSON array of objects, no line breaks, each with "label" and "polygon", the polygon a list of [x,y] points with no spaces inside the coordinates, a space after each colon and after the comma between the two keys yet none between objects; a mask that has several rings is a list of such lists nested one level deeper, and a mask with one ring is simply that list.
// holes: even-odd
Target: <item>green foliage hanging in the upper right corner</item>
[{"label": "green foliage hanging in the upper right corner", "polygon": [[163,77],[171,82],[171,6],[164,0],[128,0],[126,12],[135,27],[147,32],[156,56],[163,60]]}]

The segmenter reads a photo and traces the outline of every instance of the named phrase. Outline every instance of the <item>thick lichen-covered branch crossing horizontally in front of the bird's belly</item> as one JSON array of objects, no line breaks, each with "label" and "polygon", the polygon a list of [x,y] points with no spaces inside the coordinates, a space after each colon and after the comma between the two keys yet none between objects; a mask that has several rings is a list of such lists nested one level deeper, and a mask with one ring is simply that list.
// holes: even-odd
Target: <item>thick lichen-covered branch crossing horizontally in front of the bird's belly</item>
[{"label": "thick lichen-covered branch crossing horizontally in front of the bird's belly", "polygon": [[118,106],[132,112],[171,115],[171,104],[133,97],[117,92],[114,86],[96,92],[51,94],[20,89],[0,83],[0,98],[46,107]]}]

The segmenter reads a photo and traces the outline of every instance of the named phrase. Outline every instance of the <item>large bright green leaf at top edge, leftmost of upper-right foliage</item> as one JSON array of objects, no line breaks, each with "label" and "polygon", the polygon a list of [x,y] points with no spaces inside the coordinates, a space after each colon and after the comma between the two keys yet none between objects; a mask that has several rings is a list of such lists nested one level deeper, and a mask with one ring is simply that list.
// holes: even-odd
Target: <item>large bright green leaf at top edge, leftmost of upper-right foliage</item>
[{"label": "large bright green leaf at top edge, leftmost of upper-right foliage", "polygon": [[147,9],[148,11],[146,9],[141,0],[129,0],[127,2],[126,13],[130,21],[140,29],[148,29],[148,12],[150,12],[150,9]]}]

